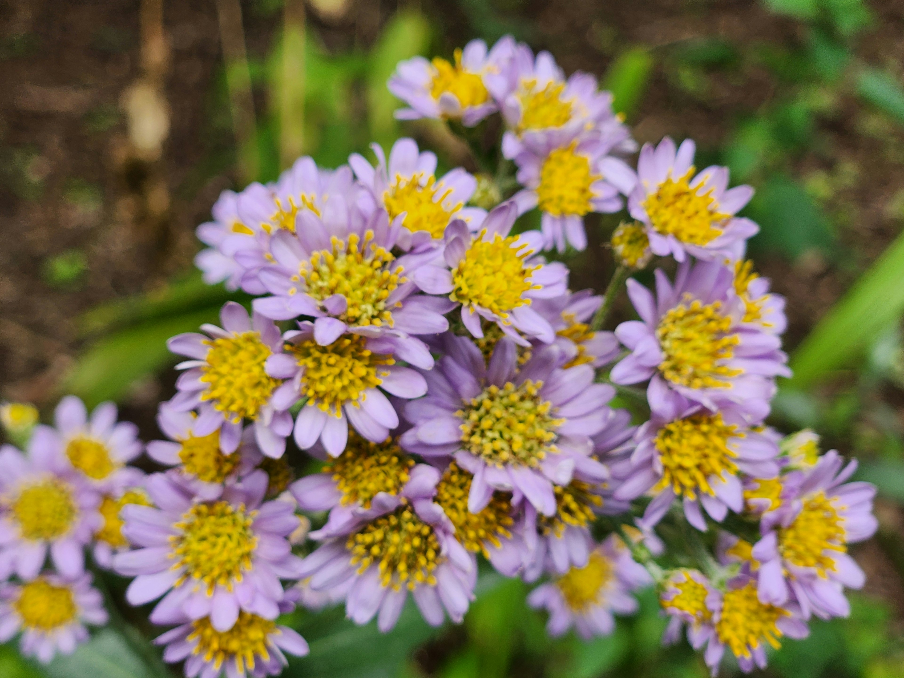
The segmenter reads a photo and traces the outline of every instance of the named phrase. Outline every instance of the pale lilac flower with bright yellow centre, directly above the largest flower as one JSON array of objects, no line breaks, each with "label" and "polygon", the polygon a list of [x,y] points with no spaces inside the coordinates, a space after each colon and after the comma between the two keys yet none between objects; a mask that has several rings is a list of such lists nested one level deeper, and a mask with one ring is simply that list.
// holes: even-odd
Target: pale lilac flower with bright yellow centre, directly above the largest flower
[{"label": "pale lilac flower with bright yellow centre, directly above the largest flower", "polygon": [[568,268],[534,256],[541,250],[538,231],[509,235],[517,216],[514,203],[504,202],[479,233],[470,233],[464,221],[453,222],[443,237],[443,256],[418,268],[413,280],[428,294],[460,304],[462,322],[477,338],[484,336],[480,319],[485,318],[518,344],[530,344],[519,332],[550,344],[555,332],[531,304],[565,294]]}]

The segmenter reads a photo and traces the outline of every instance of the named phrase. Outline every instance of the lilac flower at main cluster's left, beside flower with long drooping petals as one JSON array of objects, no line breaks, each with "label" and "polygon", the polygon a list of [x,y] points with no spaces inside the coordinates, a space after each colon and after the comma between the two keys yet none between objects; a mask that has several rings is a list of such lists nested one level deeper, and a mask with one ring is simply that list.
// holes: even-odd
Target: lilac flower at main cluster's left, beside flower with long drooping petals
[{"label": "lilac flower at main cluster's left, beside flower with long drooping petals", "polygon": [[227,455],[239,447],[242,422],[250,419],[261,451],[281,457],[292,417],[273,408],[270,400],[280,382],[265,368],[268,358],[282,350],[279,328],[263,315],[250,318],[234,301],[223,305],[220,321],[222,327],[202,325],[206,335],[177,334],[166,342],[171,352],[190,358],[176,365],[185,372],[168,407],[199,410],[191,435],[203,438],[219,432],[220,448]]}]

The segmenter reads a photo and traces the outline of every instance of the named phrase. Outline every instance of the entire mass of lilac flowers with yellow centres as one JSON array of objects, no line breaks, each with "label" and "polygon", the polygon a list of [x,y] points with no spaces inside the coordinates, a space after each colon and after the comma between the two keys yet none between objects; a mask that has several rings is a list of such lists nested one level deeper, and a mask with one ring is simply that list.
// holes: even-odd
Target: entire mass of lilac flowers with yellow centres
[{"label": "entire mass of lilac flowers with yellow centres", "polygon": [[[402,138],[375,165],[303,157],[223,193],[196,262],[254,298],[169,340],[185,360],[146,446],[162,470],[129,466],[143,446],[110,404],[89,418],[66,398],[33,431],[32,411],[0,411],[31,438],[0,453],[0,641],[21,630],[47,661],[106,621],[88,547],[128,603],[155,601],[165,661],[205,678],[306,654],[277,623],[298,604],[386,632],[410,594],[428,624],[461,622],[478,558],[538,582],[553,636],[610,634],[654,585],[664,641],[686,627],[714,674],[726,649],[749,671],[814,615],[846,616],[874,488],[814,433],[766,424],[790,372],[784,300],[743,259],[752,189],[698,173],[690,140],[644,146],[635,170],[611,95],[511,37],[403,61],[389,86],[401,119],[468,134],[498,115],[493,190],[477,201],[475,175],[438,176]],[[607,297],[571,291],[542,252],[585,249],[585,215],[624,208]],[[516,225],[534,209],[539,231]],[[654,257],[675,266],[654,291],[627,279],[639,319],[603,331]],[[613,407],[619,389],[645,402]],[[666,523],[686,543],[666,548]]]}]

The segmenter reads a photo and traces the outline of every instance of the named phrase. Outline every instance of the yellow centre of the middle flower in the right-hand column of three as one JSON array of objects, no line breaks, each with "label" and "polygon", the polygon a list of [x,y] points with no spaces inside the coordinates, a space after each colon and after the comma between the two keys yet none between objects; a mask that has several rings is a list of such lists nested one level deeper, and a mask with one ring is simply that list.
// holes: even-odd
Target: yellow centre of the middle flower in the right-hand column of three
[{"label": "yellow centre of the middle flower in the right-hand column of three", "polygon": [[659,371],[668,381],[692,389],[724,389],[726,378],[742,371],[722,364],[734,356],[737,334],[726,334],[731,318],[720,313],[721,303],[675,306],[659,321],[656,336],[663,351]]}]

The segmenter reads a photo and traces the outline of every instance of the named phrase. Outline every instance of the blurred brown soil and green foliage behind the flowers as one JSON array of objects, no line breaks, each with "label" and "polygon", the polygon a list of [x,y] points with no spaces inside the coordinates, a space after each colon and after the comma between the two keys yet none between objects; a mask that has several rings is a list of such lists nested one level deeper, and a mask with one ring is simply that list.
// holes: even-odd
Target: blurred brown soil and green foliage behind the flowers
[{"label": "blurred brown soil and green foliage behind the flowers", "polygon": [[[756,187],[750,254],[787,297],[796,372],[772,423],[860,457],[881,524],[854,550],[869,580],[851,619],[815,621],[763,674],[904,676],[900,0],[3,0],[0,399],[45,415],[63,392],[117,400],[155,438],[174,382],[165,339],[242,300],[193,271],[193,230],[218,194],[298,155],[334,166],[402,135],[441,167],[474,169],[438,122],[397,123],[385,83],[401,59],[504,33],[596,74],[639,142],[693,137],[698,166]],[[571,287],[605,287],[618,216],[589,219],[588,250],[564,258]],[[286,675],[707,674],[686,645],[661,648],[652,591],[614,636],[585,644],[547,638],[521,583],[487,576],[479,589],[463,626],[431,629],[410,609],[389,636],[341,609],[297,612],[312,652]],[[101,632],[40,671],[0,646],[0,676],[159,675],[130,633]]]}]

